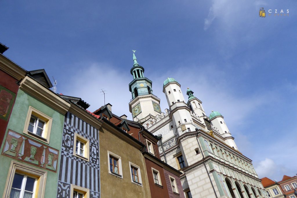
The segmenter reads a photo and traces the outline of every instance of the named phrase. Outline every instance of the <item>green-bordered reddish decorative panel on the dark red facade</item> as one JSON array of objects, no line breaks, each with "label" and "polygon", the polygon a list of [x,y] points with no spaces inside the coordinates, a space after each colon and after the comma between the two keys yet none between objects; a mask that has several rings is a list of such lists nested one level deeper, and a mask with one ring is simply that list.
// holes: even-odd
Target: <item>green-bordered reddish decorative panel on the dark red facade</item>
[{"label": "green-bordered reddish decorative panel on the dark red facade", "polygon": [[14,101],[15,93],[0,85],[0,119],[7,121]]}]

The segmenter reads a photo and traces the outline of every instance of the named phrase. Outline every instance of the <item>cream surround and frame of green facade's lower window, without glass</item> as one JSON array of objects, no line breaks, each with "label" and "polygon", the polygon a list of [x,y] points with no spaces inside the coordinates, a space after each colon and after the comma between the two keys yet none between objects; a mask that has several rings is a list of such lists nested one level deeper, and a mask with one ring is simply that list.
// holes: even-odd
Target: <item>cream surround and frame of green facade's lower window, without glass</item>
[{"label": "cream surround and frame of green facade's lower window, without glass", "polygon": [[29,175],[32,178],[36,178],[35,182],[37,183],[34,184],[34,197],[44,197],[47,172],[26,164],[21,164],[17,161],[11,161],[3,197],[7,198],[10,196],[15,173],[20,175]]}]

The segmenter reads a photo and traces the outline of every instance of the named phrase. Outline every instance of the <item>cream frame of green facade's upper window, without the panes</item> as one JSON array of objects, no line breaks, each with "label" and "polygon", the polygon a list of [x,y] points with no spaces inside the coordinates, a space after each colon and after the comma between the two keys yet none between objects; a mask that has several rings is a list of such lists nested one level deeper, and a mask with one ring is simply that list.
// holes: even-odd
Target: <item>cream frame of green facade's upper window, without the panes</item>
[{"label": "cream frame of green facade's upper window, without the panes", "polygon": [[[30,132],[28,130],[31,116],[34,116],[37,118],[36,121],[34,122],[33,132]],[[38,127],[38,122],[40,120],[44,122],[43,131],[42,131],[41,136],[37,135],[37,127]],[[53,118],[49,117],[48,115],[45,115],[44,113],[40,112],[39,110],[37,110],[35,108],[29,106],[23,133],[28,136],[34,137],[35,139],[38,139],[42,142],[49,144],[52,122],[53,122]]]}]

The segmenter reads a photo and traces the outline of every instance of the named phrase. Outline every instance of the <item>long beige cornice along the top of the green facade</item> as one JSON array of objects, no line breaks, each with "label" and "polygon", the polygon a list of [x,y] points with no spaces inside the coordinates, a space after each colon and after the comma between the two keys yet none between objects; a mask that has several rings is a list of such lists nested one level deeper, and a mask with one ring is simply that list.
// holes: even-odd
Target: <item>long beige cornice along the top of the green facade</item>
[{"label": "long beige cornice along the top of the green facade", "polygon": [[70,108],[68,102],[29,76],[20,82],[20,89],[63,115]]}]

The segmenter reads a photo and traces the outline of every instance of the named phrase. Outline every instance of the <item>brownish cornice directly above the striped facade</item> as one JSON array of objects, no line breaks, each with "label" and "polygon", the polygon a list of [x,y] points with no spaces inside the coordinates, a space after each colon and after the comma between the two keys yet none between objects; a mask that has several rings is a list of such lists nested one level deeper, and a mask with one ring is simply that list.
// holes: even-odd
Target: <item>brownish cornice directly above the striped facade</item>
[{"label": "brownish cornice directly above the striped facade", "polygon": [[82,119],[86,123],[89,123],[91,126],[94,126],[98,130],[102,126],[102,121],[98,120],[96,117],[94,117],[86,110],[80,108],[74,103],[70,104],[69,112],[72,113],[73,115],[76,115],[78,118]]}]

